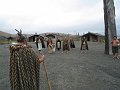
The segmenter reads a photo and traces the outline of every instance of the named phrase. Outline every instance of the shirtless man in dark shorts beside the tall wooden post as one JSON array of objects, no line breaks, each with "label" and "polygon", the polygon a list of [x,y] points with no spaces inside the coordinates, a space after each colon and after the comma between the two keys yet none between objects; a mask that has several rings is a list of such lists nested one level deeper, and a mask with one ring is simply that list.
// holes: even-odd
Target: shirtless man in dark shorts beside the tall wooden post
[{"label": "shirtless man in dark shorts beside the tall wooden post", "polygon": [[119,59],[119,57],[118,57],[118,47],[119,47],[119,40],[117,39],[117,37],[116,36],[114,36],[113,37],[113,39],[112,39],[112,42],[111,42],[111,44],[112,44],[112,53],[113,53],[113,58],[116,58],[116,59]]}]

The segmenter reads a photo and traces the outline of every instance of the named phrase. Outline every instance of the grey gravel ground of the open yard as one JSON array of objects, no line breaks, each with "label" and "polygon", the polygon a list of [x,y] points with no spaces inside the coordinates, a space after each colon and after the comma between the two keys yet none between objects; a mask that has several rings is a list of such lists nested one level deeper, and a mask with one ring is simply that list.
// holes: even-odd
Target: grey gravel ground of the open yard
[{"label": "grey gravel ground of the open yard", "polygon": [[[68,53],[46,53],[46,65],[52,90],[120,90],[120,60],[104,54],[104,44],[89,42],[89,50],[80,53],[79,42]],[[35,44],[31,43],[37,52]],[[0,45],[0,90],[10,90],[9,48]],[[40,66],[40,90],[48,90],[43,65]]]}]

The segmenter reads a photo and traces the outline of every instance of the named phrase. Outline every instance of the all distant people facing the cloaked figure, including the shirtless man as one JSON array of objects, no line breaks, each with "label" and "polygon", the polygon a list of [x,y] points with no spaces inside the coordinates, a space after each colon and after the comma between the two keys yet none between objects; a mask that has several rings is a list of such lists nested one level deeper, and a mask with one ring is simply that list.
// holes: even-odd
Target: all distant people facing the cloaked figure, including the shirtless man
[{"label": "all distant people facing the cloaked figure, including the shirtless man", "polygon": [[[113,58],[119,59],[118,48],[120,46],[120,42],[116,36],[113,37],[111,44],[112,44]],[[38,36],[36,39],[36,46],[39,52],[41,52],[42,49],[45,48],[44,39],[40,38],[40,36]],[[56,50],[60,51],[61,49],[62,52],[68,53],[68,51],[70,51],[70,48],[71,49],[75,48],[75,43],[72,38],[69,39],[67,37],[65,37],[63,40],[60,40],[59,38],[57,38],[57,40],[55,38],[54,39],[48,38],[47,48],[48,48],[48,53],[54,53]],[[85,50],[88,50],[88,43],[85,37],[81,38],[80,50],[81,53],[85,53]]]}]

